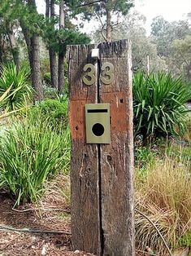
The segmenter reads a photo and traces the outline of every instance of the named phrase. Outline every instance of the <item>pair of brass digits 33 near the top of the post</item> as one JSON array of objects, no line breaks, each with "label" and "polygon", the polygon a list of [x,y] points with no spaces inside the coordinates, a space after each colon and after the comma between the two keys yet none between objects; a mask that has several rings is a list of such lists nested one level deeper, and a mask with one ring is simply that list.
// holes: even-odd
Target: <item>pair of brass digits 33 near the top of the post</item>
[{"label": "pair of brass digits 33 near the top of the post", "polygon": [[[86,86],[92,86],[93,83],[96,81],[95,73],[96,68],[93,64],[86,64],[83,68],[85,72],[87,72],[86,76],[83,77],[82,81],[85,83]],[[109,85],[111,82],[114,81],[114,65],[110,62],[105,62],[102,64],[102,75],[100,77],[100,80],[103,84]]]}]

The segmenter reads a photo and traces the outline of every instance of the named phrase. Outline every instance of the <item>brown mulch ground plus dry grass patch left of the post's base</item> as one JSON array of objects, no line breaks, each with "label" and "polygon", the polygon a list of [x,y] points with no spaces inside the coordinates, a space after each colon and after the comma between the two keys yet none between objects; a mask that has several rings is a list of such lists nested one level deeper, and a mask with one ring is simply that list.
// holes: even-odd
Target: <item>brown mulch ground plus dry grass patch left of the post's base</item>
[{"label": "brown mulch ground plus dry grass patch left of the post's base", "polygon": [[[54,183],[55,184],[55,183]],[[36,205],[25,204],[13,210],[14,201],[0,192],[0,226],[31,228],[38,230],[70,231],[70,209],[58,188],[50,186],[43,197],[40,211]],[[72,251],[71,236],[64,234],[14,232],[0,227],[0,256],[26,255],[79,255],[85,252]]]}]

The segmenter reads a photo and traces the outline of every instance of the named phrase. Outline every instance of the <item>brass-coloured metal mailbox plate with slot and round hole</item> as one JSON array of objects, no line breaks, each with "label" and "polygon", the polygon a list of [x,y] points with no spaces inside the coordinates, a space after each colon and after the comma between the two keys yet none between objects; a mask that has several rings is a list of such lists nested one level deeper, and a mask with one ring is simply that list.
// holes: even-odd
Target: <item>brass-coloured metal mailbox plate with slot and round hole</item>
[{"label": "brass-coloured metal mailbox plate with slot and round hole", "polygon": [[85,104],[86,143],[111,143],[110,104]]}]

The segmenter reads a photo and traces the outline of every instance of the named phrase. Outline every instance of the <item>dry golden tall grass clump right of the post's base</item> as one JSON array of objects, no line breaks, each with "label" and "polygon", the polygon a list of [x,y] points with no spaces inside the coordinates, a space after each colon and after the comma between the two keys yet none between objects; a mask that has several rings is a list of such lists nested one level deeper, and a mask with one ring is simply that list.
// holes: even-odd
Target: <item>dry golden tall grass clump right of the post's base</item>
[{"label": "dry golden tall grass clump right of the post's base", "polygon": [[[138,171],[138,170],[137,170]],[[171,247],[179,244],[180,237],[191,229],[191,176],[190,162],[174,157],[156,158],[148,165],[147,177],[136,182],[136,236],[141,249],[150,246],[160,255],[167,249],[158,231]],[[154,225],[153,225],[154,223]],[[154,227],[155,226],[155,227]],[[158,231],[156,230],[156,227]]]}]

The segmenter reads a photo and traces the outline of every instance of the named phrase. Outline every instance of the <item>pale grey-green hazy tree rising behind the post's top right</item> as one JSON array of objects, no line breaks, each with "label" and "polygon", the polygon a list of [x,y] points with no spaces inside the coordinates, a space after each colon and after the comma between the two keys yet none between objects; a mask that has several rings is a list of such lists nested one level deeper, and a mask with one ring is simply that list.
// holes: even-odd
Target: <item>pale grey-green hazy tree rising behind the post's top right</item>
[{"label": "pale grey-green hazy tree rising behind the post's top right", "polygon": [[[137,71],[138,69],[147,69],[147,59],[150,59],[150,70],[161,71],[166,70],[166,64],[164,60],[161,60],[157,54],[156,45],[152,40],[146,36],[144,29],[145,16],[141,15],[137,11],[133,11],[124,16],[122,22],[115,26],[112,31],[112,40],[130,39],[132,42],[132,69]],[[102,42],[101,35],[102,28],[99,28],[96,32],[92,32],[93,42]]]}]

